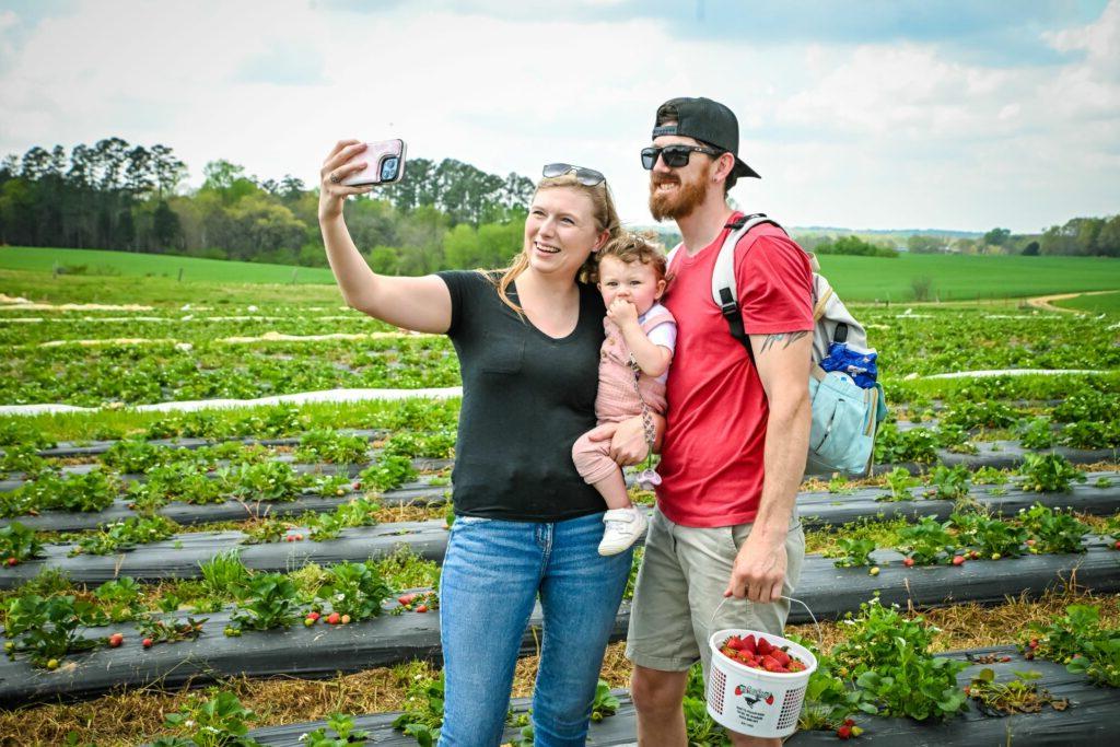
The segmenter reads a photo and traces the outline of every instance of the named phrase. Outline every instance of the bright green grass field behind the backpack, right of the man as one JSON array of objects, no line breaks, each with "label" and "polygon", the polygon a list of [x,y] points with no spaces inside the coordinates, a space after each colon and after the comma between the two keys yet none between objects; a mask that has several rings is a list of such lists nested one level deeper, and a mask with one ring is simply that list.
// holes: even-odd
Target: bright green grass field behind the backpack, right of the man
[{"label": "bright green grass field behind the backpack, right of the man", "polygon": [[897,259],[820,256],[823,274],[846,301],[914,300],[911,281],[932,280],[930,300],[1021,298],[1120,289],[1120,261],[1084,256],[903,254]]}]

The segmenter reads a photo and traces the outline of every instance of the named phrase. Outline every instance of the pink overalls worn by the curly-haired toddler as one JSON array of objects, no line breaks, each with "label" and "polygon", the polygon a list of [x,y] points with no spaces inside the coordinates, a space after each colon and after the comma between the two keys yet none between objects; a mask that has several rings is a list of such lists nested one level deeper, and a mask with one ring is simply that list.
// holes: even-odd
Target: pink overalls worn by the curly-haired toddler
[{"label": "pink overalls worn by the curly-haired toddler", "polygon": [[[673,321],[666,311],[647,318],[642,324],[642,332],[657,325]],[[653,376],[641,374],[637,389],[634,389],[634,370],[629,366],[629,346],[623,338],[622,329],[610,319],[603,318],[603,329],[607,337],[599,351],[599,393],[595,398],[595,417],[598,424],[614,423],[642,414],[642,401],[645,401],[651,412],[665,413],[665,384]],[[588,484],[598,483],[612,471],[618,469],[617,463],[610,458],[610,439],[592,441],[584,433],[571,447],[571,458],[580,477]]]}]

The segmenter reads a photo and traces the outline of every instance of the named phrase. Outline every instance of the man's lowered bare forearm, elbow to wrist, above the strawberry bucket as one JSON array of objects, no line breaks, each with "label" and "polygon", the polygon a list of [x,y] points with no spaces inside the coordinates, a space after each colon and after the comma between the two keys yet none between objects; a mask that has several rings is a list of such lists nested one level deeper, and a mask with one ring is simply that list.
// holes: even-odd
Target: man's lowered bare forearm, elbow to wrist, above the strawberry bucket
[{"label": "man's lowered bare forearm, elbow to wrist, above the strawberry bucket", "polygon": [[752,533],[760,532],[775,542],[785,541],[797,488],[805,474],[811,412],[806,391],[804,396],[772,405],[766,421],[763,494]]}]

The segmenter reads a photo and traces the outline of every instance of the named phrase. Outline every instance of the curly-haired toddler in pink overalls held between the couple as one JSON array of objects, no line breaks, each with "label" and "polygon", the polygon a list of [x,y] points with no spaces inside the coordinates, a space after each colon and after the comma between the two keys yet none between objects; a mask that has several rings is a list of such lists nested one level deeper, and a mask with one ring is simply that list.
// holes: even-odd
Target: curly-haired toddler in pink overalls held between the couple
[{"label": "curly-haired toddler in pink overalls held between the couple", "polygon": [[[599,424],[650,412],[665,412],[665,380],[676,344],[676,321],[657,302],[665,292],[665,256],[643,236],[624,233],[597,256],[596,280],[607,316],[599,353]],[[636,368],[636,371],[635,371]],[[610,441],[585,433],[572,446],[580,476],[607,503],[600,555],[626,550],[645,531],[646,520],[626,493],[622,469],[610,458]]]}]

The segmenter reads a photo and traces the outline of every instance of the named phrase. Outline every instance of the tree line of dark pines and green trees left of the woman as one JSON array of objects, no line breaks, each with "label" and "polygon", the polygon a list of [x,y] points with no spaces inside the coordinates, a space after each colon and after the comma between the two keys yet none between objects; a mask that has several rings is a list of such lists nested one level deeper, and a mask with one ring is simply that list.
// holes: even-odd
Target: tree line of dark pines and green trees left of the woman
[{"label": "tree line of dark pines and green trees left of the woman", "polygon": [[[112,249],[325,267],[318,189],[208,162],[202,187],[164,144],[121,138],[34,147],[0,161],[0,243]],[[521,249],[534,183],[454,159],[413,158],[407,178],[347,200],[355,243],[379,272],[498,267]]]}]

